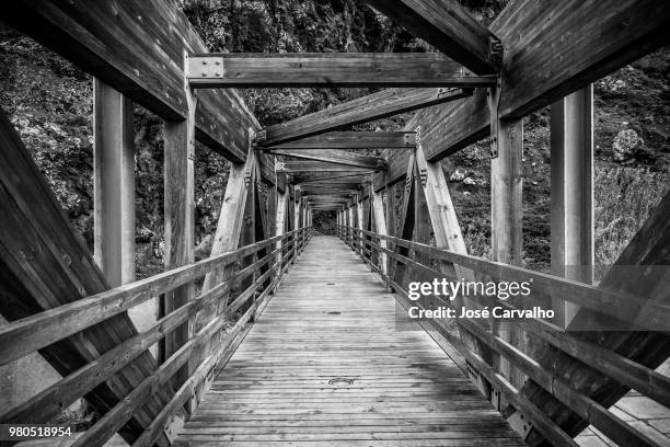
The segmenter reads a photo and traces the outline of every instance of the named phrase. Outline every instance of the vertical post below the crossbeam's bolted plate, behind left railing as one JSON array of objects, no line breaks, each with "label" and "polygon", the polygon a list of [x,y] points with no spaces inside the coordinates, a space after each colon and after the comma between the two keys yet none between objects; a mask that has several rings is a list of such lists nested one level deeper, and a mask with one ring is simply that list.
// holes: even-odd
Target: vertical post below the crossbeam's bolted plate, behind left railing
[{"label": "vertical post below the crossbeam's bolted plate, behind left railing", "polygon": [[[187,61],[185,61],[187,62]],[[194,262],[195,250],[195,111],[197,98],[186,84],[188,117],[184,122],[165,122],[164,175],[165,175],[165,268],[174,268]],[[193,283],[177,287],[164,296],[165,314],[178,309],[193,297]],[[193,322],[175,329],[164,339],[164,358],[174,354],[188,341]],[[184,366],[174,376],[173,385],[181,386],[189,376]]]}]

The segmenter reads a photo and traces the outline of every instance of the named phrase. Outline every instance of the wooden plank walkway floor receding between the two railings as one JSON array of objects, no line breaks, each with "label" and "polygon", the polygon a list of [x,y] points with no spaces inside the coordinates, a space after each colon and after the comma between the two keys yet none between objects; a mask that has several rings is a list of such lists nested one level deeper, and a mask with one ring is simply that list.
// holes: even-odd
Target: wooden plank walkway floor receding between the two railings
[{"label": "wooden plank walkway floor receding between the two railings", "polygon": [[428,334],[395,331],[394,312],[355,253],[314,237],[175,445],[524,445]]}]

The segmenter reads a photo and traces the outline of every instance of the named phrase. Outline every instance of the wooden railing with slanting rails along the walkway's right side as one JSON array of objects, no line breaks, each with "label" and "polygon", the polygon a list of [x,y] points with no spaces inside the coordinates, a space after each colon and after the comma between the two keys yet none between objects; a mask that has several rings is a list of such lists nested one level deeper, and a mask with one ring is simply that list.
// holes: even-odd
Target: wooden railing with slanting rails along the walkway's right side
[{"label": "wooden railing with slanting rails along the walkway's right side", "polygon": [[[612,290],[601,289],[594,286],[573,282],[569,279],[546,275],[525,268],[490,262],[473,256],[457,254],[448,250],[411,242],[407,240],[382,236],[370,231],[351,227],[337,227],[339,238],[360,253],[362,260],[379,273],[385,284],[397,295],[398,300],[406,308],[409,306],[421,306],[420,301],[412,301],[408,293],[393,278],[393,274],[384,273],[388,266],[381,265],[382,256],[376,253],[385,253],[393,263],[404,265],[411,276],[427,275],[435,278],[460,279],[449,276],[439,267],[425,265],[421,262],[400,254],[400,249],[408,253],[423,254],[436,260],[438,264],[459,266],[471,270],[475,278],[481,280],[532,280],[533,293],[552,296],[574,302],[581,307],[592,309],[609,317],[615,317],[622,321],[634,323],[643,329],[662,329],[662,322],[670,321],[670,307],[662,302],[651,301],[644,297],[629,294],[620,294]],[[385,245],[381,243],[385,242]],[[391,264],[391,263],[390,263]],[[390,268],[393,271],[393,268]],[[495,297],[476,296],[475,303],[480,306],[499,306],[507,310],[518,309],[508,301],[498,300]],[[432,303],[441,306],[458,307],[459,300],[449,301],[439,297],[431,297]],[[431,306],[432,307],[432,306]],[[632,321],[634,318],[634,321]],[[542,365],[539,359],[533,358],[536,352],[522,349],[512,345],[509,341],[501,339],[494,332],[477,324],[474,320],[454,319],[461,334],[466,333],[473,340],[487,346],[493,353],[506,358],[517,367],[528,379],[532,379],[540,387],[551,393],[564,405],[568,406],[605,436],[621,446],[659,446],[659,444],[636,429],[633,425],[621,420],[616,414],[608,411],[596,402],[582,390],[575,388],[568,380],[554,374],[552,367]],[[613,351],[603,348],[594,343],[585,341],[576,334],[566,332],[562,328],[542,319],[512,319],[508,320],[512,325],[523,330],[535,343],[544,343],[574,357],[602,375],[611,377],[622,386],[637,390],[643,396],[670,408],[670,378],[654,369],[635,363],[629,358],[621,356]],[[515,388],[505,377],[485,362],[480,353],[464,343],[462,337],[448,331],[437,320],[424,320],[419,323],[425,329],[437,331],[447,339],[465,358],[466,373],[474,379],[484,378],[493,387],[493,393],[488,396],[493,401],[499,401],[503,393],[507,402],[525,416],[530,423],[540,431],[546,439],[556,446],[577,446],[575,440],[566,434],[554,421],[545,416],[541,410],[530,402],[519,389]],[[525,347],[532,343],[524,344]]]}]

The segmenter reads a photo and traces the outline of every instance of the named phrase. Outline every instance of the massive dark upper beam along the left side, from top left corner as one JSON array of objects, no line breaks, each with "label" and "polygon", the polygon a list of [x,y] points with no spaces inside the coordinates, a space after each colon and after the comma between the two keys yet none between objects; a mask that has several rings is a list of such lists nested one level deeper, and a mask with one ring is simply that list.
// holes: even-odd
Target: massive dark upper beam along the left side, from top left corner
[{"label": "massive dark upper beam along the left side, from top left corner", "polygon": [[[176,3],[18,0],[2,20],[163,119],[186,118],[184,54],[207,47]],[[198,140],[243,162],[249,128],[261,126],[242,99],[234,90],[198,99]]]}]

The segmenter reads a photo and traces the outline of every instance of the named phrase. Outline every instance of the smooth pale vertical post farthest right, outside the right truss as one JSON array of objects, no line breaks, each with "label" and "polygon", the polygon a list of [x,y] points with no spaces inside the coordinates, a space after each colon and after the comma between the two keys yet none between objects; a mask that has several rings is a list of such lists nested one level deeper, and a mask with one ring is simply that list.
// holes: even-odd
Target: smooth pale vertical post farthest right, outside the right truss
[{"label": "smooth pale vertical post farthest right, outside the right truss", "polygon": [[[552,273],[592,283],[593,87],[552,104]],[[555,324],[567,326],[579,306],[553,298]]]}]

